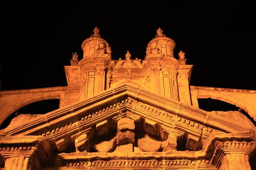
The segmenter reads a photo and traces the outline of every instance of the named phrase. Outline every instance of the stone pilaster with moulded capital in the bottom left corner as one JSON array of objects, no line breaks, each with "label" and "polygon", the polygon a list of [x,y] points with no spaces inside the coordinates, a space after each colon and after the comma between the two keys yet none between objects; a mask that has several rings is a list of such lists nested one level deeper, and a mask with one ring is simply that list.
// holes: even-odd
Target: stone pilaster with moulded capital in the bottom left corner
[{"label": "stone pilaster with moulded capital in the bottom left corner", "polygon": [[39,170],[52,156],[48,139],[42,136],[1,136],[0,154],[5,170]]}]

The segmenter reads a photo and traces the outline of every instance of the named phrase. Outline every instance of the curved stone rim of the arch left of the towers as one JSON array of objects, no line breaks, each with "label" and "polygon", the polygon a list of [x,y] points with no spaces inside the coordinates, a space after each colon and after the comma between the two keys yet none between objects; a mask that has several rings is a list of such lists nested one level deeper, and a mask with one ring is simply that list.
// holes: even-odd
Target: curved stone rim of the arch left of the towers
[{"label": "curved stone rim of the arch left of the towers", "polygon": [[35,103],[35,102],[40,102],[42,100],[50,100],[50,99],[61,99],[61,94],[60,93],[50,93],[50,94],[41,94],[37,96],[32,96],[27,99],[23,99],[20,102],[16,103],[15,105],[12,105],[9,107],[2,115],[0,119],[0,125],[15,111],[17,111],[20,108],[23,108],[26,105]]}]

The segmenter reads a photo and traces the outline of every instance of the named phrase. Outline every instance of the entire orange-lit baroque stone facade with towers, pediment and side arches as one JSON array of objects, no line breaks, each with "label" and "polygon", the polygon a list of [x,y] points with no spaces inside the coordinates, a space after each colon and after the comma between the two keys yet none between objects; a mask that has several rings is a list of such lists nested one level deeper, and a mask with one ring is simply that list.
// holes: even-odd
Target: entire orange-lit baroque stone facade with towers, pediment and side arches
[{"label": "entire orange-lit baroque stone facade with towers, pediment and side arches", "polygon": [[44,115],[20,114],[0,130],[1,170],[251,170],[256,127],[239,111],[207,112],[199,98],[237,105],[256,120],[256,91],[189,85],[193,65],[175,59],[158,28],[145,58],[113,60],[95,28],[64,66],[68,85],[1,91],[0,123],[33,102],[60,99]]}]

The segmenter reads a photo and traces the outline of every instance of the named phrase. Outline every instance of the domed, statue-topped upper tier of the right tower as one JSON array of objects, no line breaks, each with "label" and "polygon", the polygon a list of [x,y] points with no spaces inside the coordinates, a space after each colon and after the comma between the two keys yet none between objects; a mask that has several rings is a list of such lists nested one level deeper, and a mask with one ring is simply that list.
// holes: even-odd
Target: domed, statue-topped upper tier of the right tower
[{"label": "domed, statue-topped upper tier of the right tower", "polygon": [[157,34],[148,42],[147,54],[165,54],[165,56],[174,57],[173,51],[175,49],[175,42],[163,34],[161,28],[157,29]]}]

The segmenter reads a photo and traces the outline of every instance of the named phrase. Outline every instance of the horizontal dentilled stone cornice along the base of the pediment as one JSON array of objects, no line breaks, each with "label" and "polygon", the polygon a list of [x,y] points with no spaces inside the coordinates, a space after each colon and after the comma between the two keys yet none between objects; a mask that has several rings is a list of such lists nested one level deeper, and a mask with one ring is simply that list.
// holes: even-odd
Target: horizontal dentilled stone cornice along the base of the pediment
[{"label": "horizontal dentilled stone cornice along the base of the pediment", "polygon": [[[109,160],[111,158],[111,160]],[[64,167],[83,169],[199,169],[217,170],[202,152],[149,152],[149,153],[61,153],[57,155],[58,161],[45,162],[45,169],[49,167]]]}]

